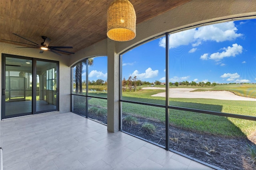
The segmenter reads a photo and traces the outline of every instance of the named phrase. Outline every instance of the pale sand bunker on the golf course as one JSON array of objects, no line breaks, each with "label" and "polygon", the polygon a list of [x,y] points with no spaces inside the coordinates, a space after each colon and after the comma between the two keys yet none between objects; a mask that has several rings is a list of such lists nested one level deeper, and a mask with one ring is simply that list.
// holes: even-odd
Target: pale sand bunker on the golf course
[{"label": "pale sand bunker on the golf course", "polygon": [[[144,87],[142,89],[165,89],[164,87]],[[203,99],[219,99],[219,100],[241,100],[241,101],[256,101],[254,98],[241,97],[230,91],[196,91],[192,88],[170,88],[170,98],[203,98]],[[165,93],[158,93],[152,96],[165,97]]]}]

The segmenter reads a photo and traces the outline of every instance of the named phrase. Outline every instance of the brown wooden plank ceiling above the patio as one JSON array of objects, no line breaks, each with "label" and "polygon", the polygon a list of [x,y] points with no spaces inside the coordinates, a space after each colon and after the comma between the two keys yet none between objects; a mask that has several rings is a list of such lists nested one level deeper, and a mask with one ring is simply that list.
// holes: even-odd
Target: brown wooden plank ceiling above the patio
[{"label": "brown wooden plank ceiling above the patio", "polygon": [[[49,46],[72,46],[76,52],[107,38],[106,13],[113,0],[0,0],[0,41],[30,43],[12,33]],[[172,10],[190,0],[130,0],[136,24]],[[2,40],[4,39],[4,40]],[[30,46],[30,45],[26,45]]]}]

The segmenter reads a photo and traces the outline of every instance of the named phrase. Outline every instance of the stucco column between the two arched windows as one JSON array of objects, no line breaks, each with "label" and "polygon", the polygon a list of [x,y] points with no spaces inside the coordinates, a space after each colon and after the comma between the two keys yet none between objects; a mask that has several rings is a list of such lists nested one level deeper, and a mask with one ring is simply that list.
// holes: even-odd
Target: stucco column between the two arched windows
[{"label": "stucco column between the two arched windows", "polygon": [[116,42],[108,38],[108,131],[119,130],[119,55]]}]

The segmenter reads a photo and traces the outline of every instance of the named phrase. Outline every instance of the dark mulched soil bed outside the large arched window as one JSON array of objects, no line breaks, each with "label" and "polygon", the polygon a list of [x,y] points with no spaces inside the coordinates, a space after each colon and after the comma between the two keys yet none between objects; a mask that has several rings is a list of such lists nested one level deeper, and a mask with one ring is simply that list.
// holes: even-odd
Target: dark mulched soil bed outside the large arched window
[{"label": "dark mulched soil bed outside the large arched window", "polygon": [[[154,143],[165,146],[165,125],[160,122],[138,118],[138,125],[123,123],[122,130],[140,136]],[[156,127],[154,134],[142,131],[144,122]],[[226,170],[255,170],[248,152],[248,144],[253,145],[247,138],[226,138],[210,134],[199,134],[190,130],[170,126],[170,149],[196,158],[207,164]]]}]

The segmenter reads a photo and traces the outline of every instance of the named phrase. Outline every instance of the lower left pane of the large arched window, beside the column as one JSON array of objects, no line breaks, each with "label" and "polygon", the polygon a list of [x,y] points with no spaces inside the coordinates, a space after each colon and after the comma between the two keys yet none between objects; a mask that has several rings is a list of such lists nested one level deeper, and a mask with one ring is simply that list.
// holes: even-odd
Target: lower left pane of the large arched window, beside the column
[{"label": "lower left pane of the large arched window, beside the column", "polygon": [[165,146],[165,108],[122,102],[122,130]]}]

